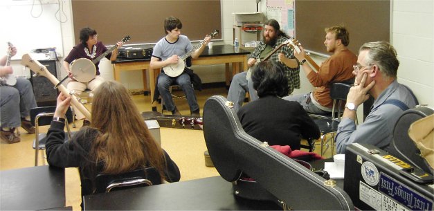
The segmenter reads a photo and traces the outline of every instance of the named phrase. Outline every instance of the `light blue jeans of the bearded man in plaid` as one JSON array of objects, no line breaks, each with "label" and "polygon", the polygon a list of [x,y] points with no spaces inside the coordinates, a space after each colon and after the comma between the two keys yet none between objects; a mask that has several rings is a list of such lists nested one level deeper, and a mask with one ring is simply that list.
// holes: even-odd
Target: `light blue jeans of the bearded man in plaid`
[{"label": "light blue jeans of the bearded man in plaid", "polygon": [[238,112],[242,107],[246,93],[250,93],[250,101],[257,100],[256,90],[253,89],[253,82],[251,79],[246,79],[247,71],[237,73],[233,76],[230,82],[228,100],[233,102],[235,112]]}]

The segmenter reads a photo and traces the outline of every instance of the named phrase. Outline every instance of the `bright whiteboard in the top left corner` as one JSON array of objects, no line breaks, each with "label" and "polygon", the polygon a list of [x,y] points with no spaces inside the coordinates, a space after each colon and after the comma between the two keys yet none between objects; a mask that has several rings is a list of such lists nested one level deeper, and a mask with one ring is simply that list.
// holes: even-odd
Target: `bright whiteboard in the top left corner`
[{"label": "bright whiteboard in the top left corner", "polygon": [[7,42],[17,47],[17,55],[12,59],[21,59],[35,48],[55,47],[58,53],[63,52],[61,23],[55,17],[58,3],[41,4],[33,0],[0,2],[0,56],[6,54]]}]

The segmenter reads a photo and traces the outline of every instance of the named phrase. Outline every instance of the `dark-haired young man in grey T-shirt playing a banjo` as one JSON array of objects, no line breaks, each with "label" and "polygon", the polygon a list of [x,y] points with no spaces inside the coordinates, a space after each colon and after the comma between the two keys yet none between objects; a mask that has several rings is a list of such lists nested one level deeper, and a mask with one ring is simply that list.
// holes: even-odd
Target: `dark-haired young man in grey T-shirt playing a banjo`
[{"label": "dark-haired young man in grey T-shirt playing a banjo", "polygon": [[[186,35],[181,35],[182,23],[176,17],[168,17],[164,20],[165,37],[159,40],[154,46],[152,52],[150,68],[158,69],[171,64],[177,64],[179,59],[189,51],[192,51],[193,46],[190,39]],[[204,43],[193,51],[191,54],[192,59],[196,59],[204,51],[206,44],[210,42],[211,37],[206,36]],[[181,86],[184,94],[186,95],[190,112],[192,116],[200,116],[199,104],[195,95],[195,89],[192,87],[190,75],[184,71],[177,77],[170,77],[162,71],[158,77],[157,88],[163,98],[164,106],[168,111],[172,111],[174,115],[181,115],[175,106],[172,94],[170,93],[170,85],[178,84]]]}]

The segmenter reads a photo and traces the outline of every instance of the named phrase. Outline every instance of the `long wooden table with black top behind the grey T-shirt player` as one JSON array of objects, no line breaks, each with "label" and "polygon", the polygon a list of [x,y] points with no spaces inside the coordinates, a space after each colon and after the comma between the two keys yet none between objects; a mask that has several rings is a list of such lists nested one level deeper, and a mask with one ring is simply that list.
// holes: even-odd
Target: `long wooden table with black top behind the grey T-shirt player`
[{"label": "long wooden table with black top behind the grey T-shirt player", "polygon": [[[225,77],[226,85],[230,85],[230,80],[233,75],[241,71],[246,71],[247,57],[250,54],[249,51],[240,49],[238,53],[235,53],[232,45],[213,46],[213,49],[205,48],[204,52],[197,59],[192,59],[192,65],[211,65],[211,64],[225,64]],[[147,90],[146,70],[150,69],[151,59],[116,59],[112,62],[114,66],[114,80],[120,81],[120,71],[143,71],[143,86],[145,91]],[[232,64],[232,73],[229,70],[229,64]],[[160,73],[159,69],[150,71],[150,93],[151,102],[154,96],[156,76]],[[156,107],[156,104],[152,104],[152,107]]]}]

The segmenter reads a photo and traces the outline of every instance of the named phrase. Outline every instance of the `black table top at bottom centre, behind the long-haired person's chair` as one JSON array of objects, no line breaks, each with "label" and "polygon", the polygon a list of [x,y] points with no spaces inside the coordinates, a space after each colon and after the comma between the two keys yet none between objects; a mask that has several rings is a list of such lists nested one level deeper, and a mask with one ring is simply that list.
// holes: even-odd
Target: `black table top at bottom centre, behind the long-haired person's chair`
[{"label": "black table top at bottom centre, behind the long-haired person's chair", "polygon": [[83,197],[84,210],[282,210],[271,201],[235,197],[221,176]]}]

